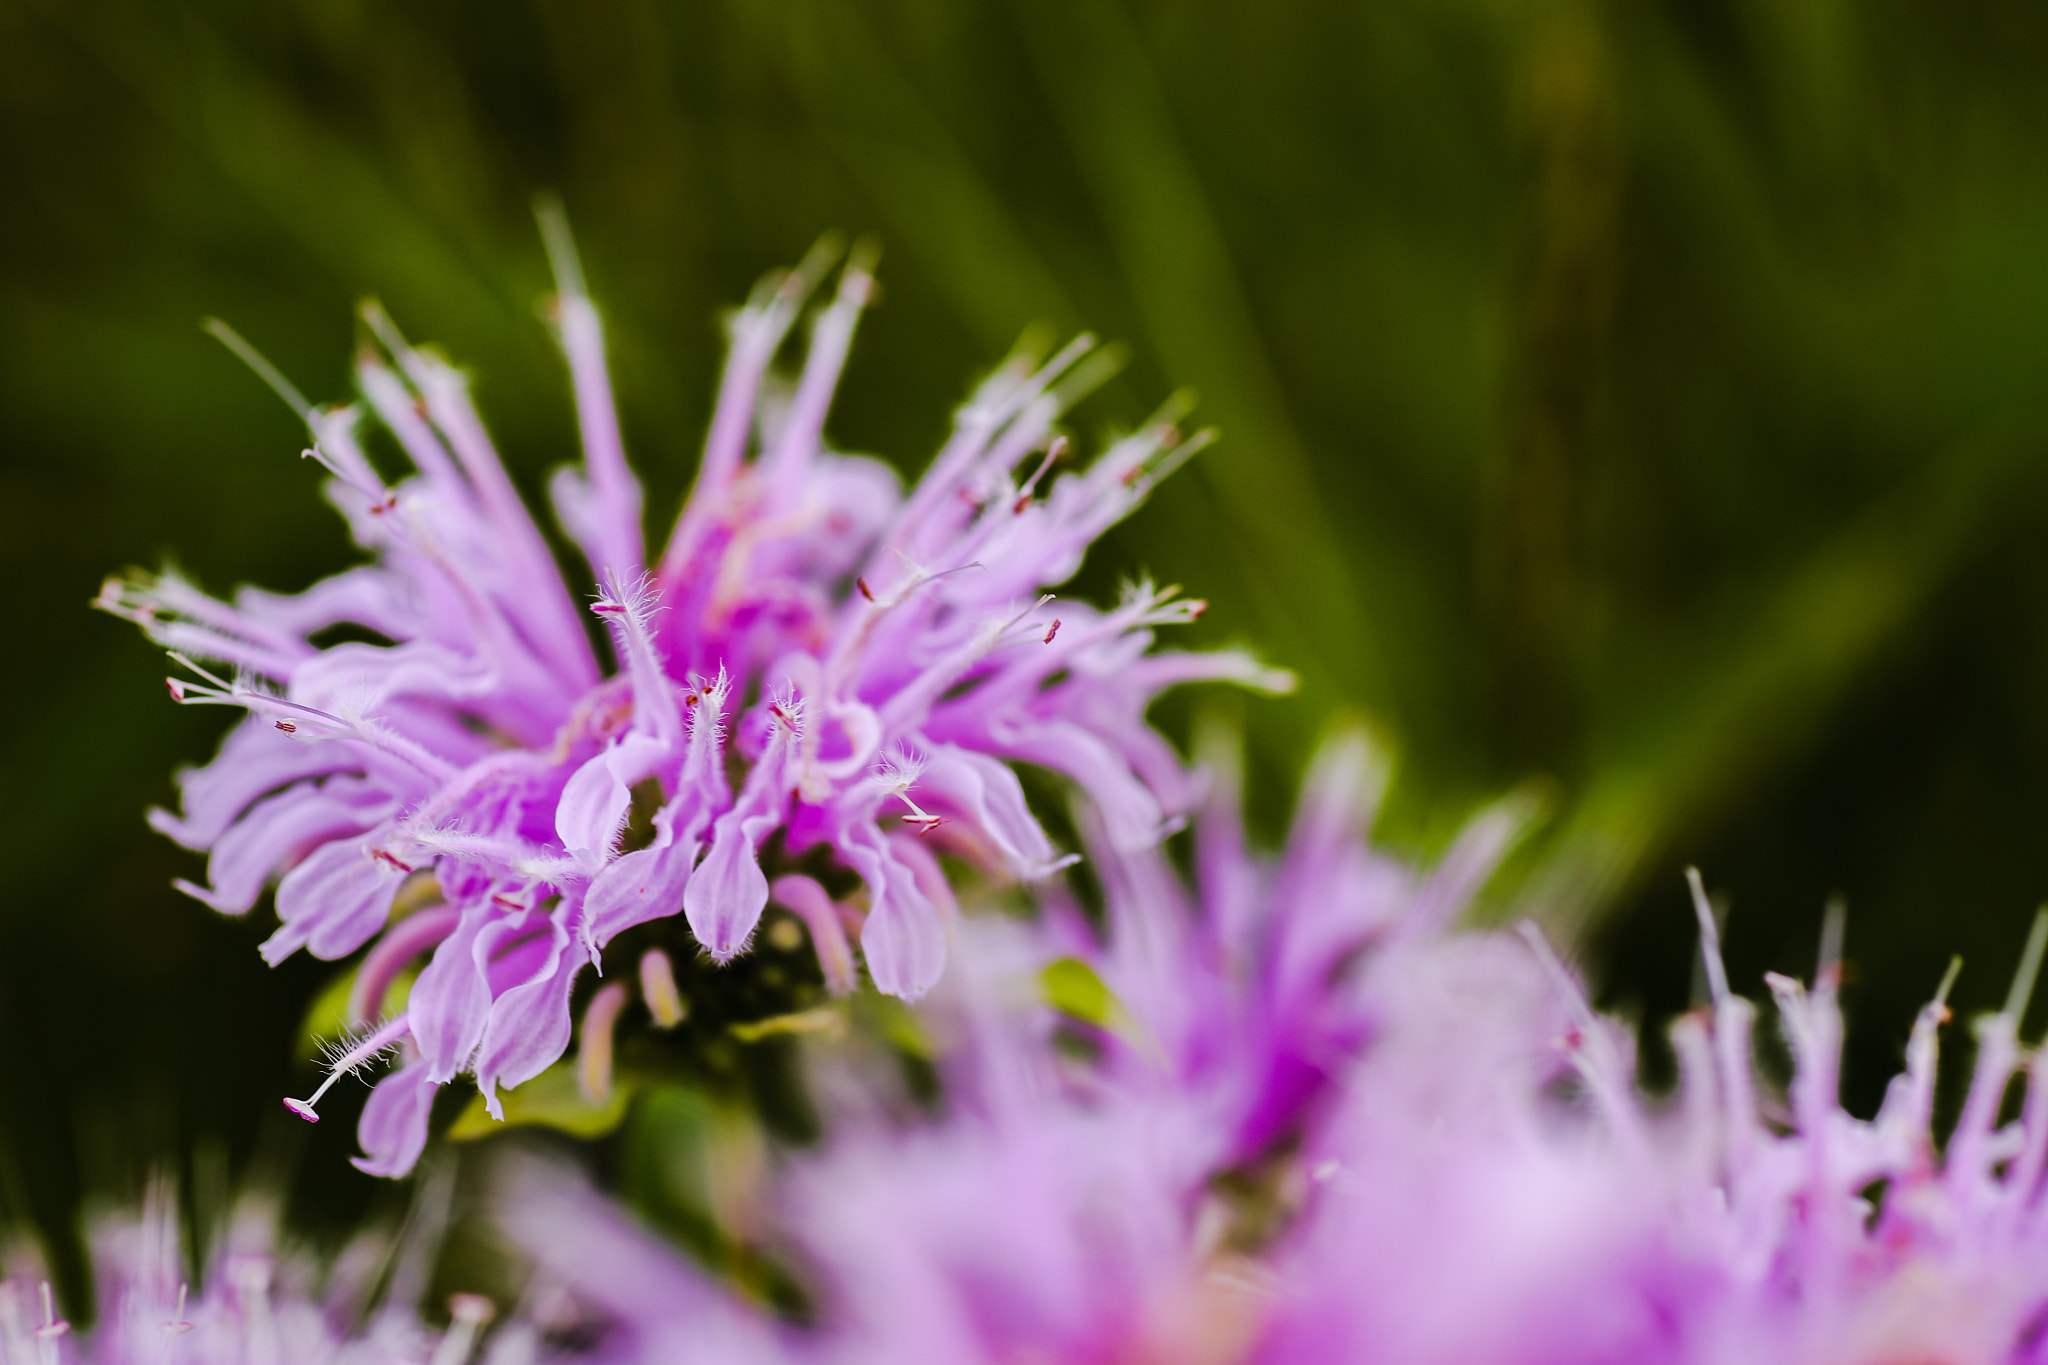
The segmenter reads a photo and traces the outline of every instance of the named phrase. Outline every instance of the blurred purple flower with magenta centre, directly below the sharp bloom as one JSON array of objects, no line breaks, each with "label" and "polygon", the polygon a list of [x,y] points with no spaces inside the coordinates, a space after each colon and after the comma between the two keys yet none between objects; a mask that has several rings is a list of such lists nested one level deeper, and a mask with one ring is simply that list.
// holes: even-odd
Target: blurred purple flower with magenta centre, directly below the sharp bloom
[{"label": "blurred purple flower with magenta centre, directly below the sharp bloom", "polygon": [[[721,1334],[739,1314],[750,1342],[733,1359],[1237,1361],[1264,1340],[1282,1287],[1262,1254],[1298,1199],[1292,1152],[1323,1130],[1380,1027],[1372,964],[1438,945],[1509,821],[1483,817],[1417,876],[1364,843],[1378,767],[1343,741],[1319,763],[1286,853],[1264,862],[1243,847],[1231,784],[1210,790],[1198,888],[1083,810],[1106,935],[1053,888],[1038,925],[963,923],[954,968],[922,1009],[948,1040],[942,1117],[848,1095],[858,1068],[821,1060],[836,1132],[784,1166],[772,1197],[778,1244],[809,1271],[821,1322],[778,1330],[725,1297]],[[530,1209],[563,1207],[559,1189],[545,1193],[553,1183],[528,1175],[500,1199],[522,1246],[604,1295],[621,1342],[684,1342],[705,1281],[670,1308],[578,1273],[586,1240],[621,1234],[596,1209],[586,1232],[563,1232],[575,1216],[535,1222]],[[670,1345],[621,1359],[723,1357]]]}]

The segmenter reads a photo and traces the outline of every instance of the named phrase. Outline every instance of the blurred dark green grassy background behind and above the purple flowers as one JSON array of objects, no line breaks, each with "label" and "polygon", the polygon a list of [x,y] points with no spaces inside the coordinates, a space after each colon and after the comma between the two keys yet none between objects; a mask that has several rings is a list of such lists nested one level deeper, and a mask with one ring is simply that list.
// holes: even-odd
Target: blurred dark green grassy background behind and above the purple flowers
[{"label": "blurred dark green grassy background behind and above the purple flowers", "polygon": [[350,559],[201,315],[340,399],[377,295],[475,370],[528,489],[573,458],[543,188],[657,522],[717,311],[874,233],[844,446],[920,467],[1034,321],[1133,348],[1083,430],[1198,389],[1225,440],[1085,583],[1184,583],[1198,639],[1303,673],[1245,704],[1266,829],[1339,714],[1397,749],[1417,853],[1532,786],[1493,900],[1651,1025],[1692,990],[1686,862],[1747,988],[1810,970],[1841,892],[1864,1109],[1950,952],[1966,1009],[2003,995],[2048,896],[2038,4],[0,0],[14,1214],[170,1150],[375,1197],[346,1107],[279,1128],[328,968],[264,970],[141,823],[227,716],[84,604],[131,563]]}]

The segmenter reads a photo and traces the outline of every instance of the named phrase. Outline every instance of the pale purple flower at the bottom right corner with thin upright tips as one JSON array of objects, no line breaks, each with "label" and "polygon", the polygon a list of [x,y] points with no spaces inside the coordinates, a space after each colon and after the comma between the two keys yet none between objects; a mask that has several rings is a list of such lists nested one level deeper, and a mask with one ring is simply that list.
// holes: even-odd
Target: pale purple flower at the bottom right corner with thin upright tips
[{"label": "pale purple flower at the bottom right corner with thin upright tips", "polygon": [[[2048,917],[2007,1007],[1978,1021],[1970,1101],[1944,1148],[1933,1070],[1954,972],[1882,1109],[1860,1119],[1835,1093],[1833,919],[1810,986],[1769,978],[1794,1074],[1765,1121],[1755,1009],[1729,986],[1704,894],[1698,911],[1712,999],[1673,1025],[1667,1105],[1642,1095],[1628,1033],[1540,937],[1520,960],[1493,939],[1485,1005],[1438,976],[1423,982],[1436,1003],[1389,1011],[1303,1152],[1335,1175],[1274,1259],[1288,1293],[1255,1359],[2040,1359],[2048,1087],[2013,1038]],[[1479,984],[1473,968],[1454,974]],[[1468,1013],[1446,1017],[1444,999]],[[2019,1072],[2025,1103],[2001,1124]]]}]

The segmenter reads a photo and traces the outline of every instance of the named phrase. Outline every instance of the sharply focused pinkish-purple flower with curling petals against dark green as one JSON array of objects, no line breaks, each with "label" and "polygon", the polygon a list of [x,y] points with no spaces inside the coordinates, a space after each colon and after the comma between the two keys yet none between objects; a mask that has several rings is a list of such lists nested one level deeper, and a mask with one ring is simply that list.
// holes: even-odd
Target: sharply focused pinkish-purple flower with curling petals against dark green
[{"label": "sharply focused pinkish-purple flower with curling petals against dark green", "polygon": [[[250,356],[305,417],[307,454],[373,563],[295,596],[221,602],[158,575],[113,579],[98,600],[170,647],[186,669],[170,679],[178,702],[250,712],[213,763],[180,776],[184,812],[152,812],[209,853],[209,884],[180,886],[240,915],[274,878],[270,962],[383,935],[360,1019],[432,950],[395,1025],[408,1064],[362,1121],[379,1173],[416,1158],[434,1087],[473,1072],[498,1113],[502,1085],[559,1058],[575,976],[602,970],[623,929],[682,911],[727,962],[782,896],[834,988],[854,980],[852,927],[872,982],[915,999],[948,952],[950,894],[926,845],[1022,880],[1063,862],[1008,761],[1065,774],[1108,839],[1141,849],[1194,800],[1145,724],[1153,696],[1190,679],[1290,686],[1239,653],[1151,653],[1153,628],[1200,602],[1149,585],[1114,610],[1042,593],[1208,438],[1182,436],[1167,409],[1067,469],[1053,424],[1112,366],[1090,338],[1006,362],[907,493],[889,467],[825,448],[870,291],[858,252],[791,389],[770,366],[829,256],[772,276],[733,317],[696,487],[649,553],[598,313],[565,229],[545,225],[584,438],[584,465],[551,493],[596,575],[610,661],[465,379],[375,307],[381,352],[356,379],[414,465],[397,483],[358,444],[360,405],[313,409]],[[383,643],[315,643],[344,624]],[[821,907],[801,876],[772,884],[762,849],[776,835],[788,855],[823,845],[864,907]]]}]

